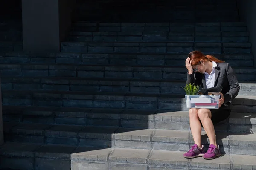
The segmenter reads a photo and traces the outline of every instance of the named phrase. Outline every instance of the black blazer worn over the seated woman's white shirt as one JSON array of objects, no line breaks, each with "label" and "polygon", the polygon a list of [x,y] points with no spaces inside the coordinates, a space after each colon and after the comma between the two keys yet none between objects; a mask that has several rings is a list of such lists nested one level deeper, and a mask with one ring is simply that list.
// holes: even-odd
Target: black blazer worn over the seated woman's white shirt
[{"label": "black blazer worn over the seated woman's white shirt", "polygon": [[[202,73],[193,73],[187,75],[187,84],[195,83],[195,85],[201,86],[201,88],[206,88],[206,82],[204,74]],[[224,104],[220,108],[231,109],[232,102],[234,98],[238,95],[240,86],[238,84],[236,75],[233,72],[233,69],[228,63],[217,63],[215,67],[215,82],[214,86],[222,86],[222,93],[224,95]]]}]

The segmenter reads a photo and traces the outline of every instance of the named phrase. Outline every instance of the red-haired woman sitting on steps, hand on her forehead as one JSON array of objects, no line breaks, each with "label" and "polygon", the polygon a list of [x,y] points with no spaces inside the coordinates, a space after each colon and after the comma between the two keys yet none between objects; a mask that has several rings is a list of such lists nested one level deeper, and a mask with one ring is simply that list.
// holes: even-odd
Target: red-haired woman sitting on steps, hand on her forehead
[{"label": "red-haired woman sitting on steps, hand on her forehead", "polygon": [[[213,124],[228,118],[232,102],[238,95],[240,86],[230,65],[211,55],[204,55],[199,51],[190,52],[186,59],[186,68],[188,69],[187,84],[195,83],[204,89],[222,86],[219,109],[189,109],[190,129],[195,144],[183,155],[185,158],[203,156],[204,159],[214,159],[221,156],[221,152],[216,143]],[[210,141],[206,153],[201,144],[201,126]]]}]

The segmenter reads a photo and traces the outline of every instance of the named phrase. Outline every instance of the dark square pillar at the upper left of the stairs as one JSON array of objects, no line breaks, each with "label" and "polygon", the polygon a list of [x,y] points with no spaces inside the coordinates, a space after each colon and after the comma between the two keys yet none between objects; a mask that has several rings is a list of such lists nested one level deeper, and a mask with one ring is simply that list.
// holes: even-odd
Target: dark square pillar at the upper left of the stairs
[{"label": "dark square pillar at the upper left of the stairs", "polygon": [[59,52],[70,28],[73,0],[22,0],[23,50]]}]

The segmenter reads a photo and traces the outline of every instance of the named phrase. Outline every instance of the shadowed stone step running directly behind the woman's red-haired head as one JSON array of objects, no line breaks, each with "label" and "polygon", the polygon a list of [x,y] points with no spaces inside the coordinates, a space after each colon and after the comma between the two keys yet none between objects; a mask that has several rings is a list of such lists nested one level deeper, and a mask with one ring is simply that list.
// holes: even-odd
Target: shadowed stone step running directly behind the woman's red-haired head
[{"label": "shadowed stone step running directly behind the woman's red-haired head", "polygon": [[[134,65],[134,66],[184,66],[188,54],[95,54],[95,53],[28,53],[7,52],[0,57],[4,64],[86,64],[86,65]],[[216,54],[234,66],[253,66],[252,54]],[[186,72],[186,71],[185,71]]]}]

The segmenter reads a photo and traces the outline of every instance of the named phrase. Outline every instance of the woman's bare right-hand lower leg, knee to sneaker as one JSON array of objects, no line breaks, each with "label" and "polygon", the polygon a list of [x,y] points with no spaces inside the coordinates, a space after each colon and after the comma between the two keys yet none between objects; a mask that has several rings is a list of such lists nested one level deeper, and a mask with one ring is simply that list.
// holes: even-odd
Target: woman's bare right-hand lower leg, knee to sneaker
[{"label": "woman's bare right-hand lower leg, knee to sneaker", "polygon": [[209,109],[199,109],[198,117],[200,118],[203,124],[204,130],[210,140],[210,144],[217,146],[216,134],[215,134],[212,120],[211,120],[211,117],[212,117],[211,111]]}]

